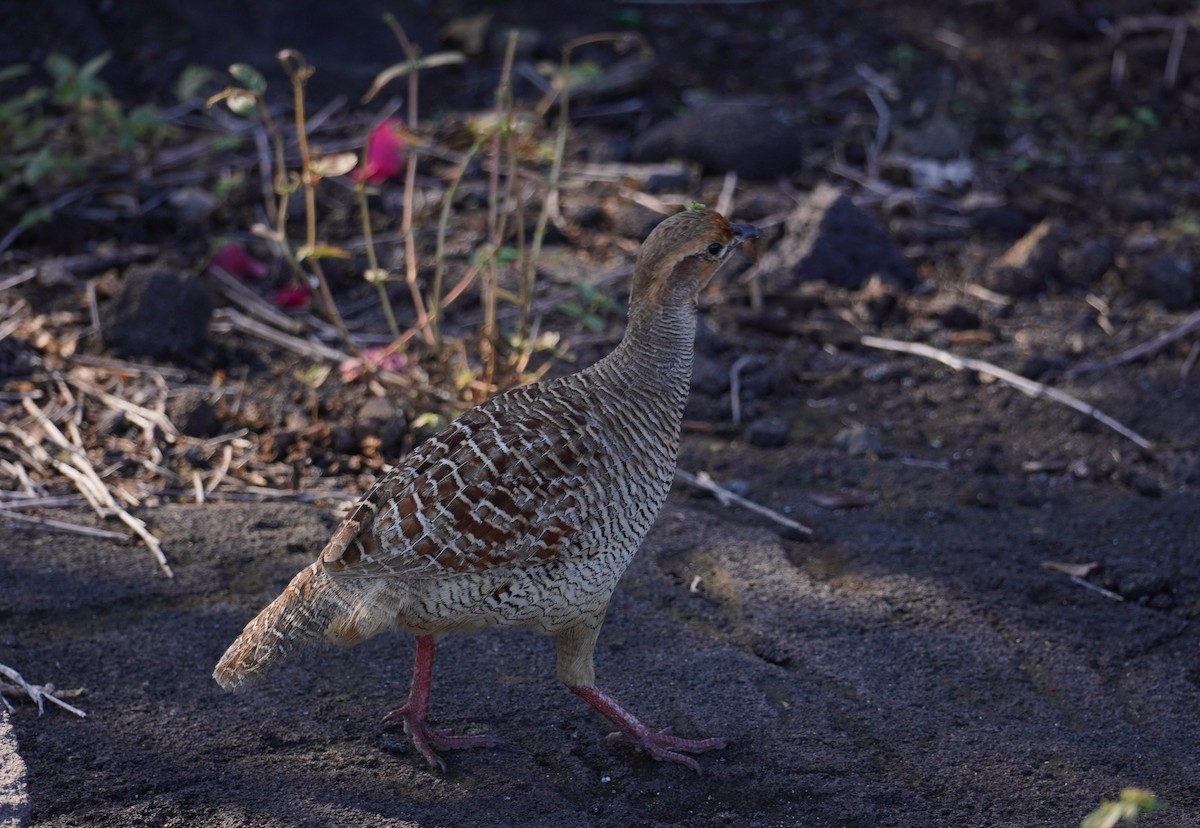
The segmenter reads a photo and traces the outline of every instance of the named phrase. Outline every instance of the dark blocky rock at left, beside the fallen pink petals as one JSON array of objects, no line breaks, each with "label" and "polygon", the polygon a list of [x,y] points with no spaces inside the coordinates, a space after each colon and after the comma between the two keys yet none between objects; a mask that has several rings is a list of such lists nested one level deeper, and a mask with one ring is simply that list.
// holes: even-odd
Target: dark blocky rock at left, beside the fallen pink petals
[{"label": "dark blocky rock at left, beside the fallen pink petals", "polygon": [[131,268],[100,312],[104,344],[124,354],[179,356],[204,347],[212,298],[200,281]]}]

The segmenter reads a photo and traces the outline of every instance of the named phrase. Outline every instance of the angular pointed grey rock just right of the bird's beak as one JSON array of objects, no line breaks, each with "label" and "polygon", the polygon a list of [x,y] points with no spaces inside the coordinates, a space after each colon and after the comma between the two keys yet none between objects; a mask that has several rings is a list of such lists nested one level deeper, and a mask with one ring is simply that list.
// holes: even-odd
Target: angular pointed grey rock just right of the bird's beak
[{"label": "angular pointed grey rock just right of the bird's beak", "polygon": [[762,257],[758,270],[763,288],[773,293],[812,280],[851,289],[871,276],[901,287],[917,283],[912,265],[878,223],[826,184],[796,206],[782,240]]}]

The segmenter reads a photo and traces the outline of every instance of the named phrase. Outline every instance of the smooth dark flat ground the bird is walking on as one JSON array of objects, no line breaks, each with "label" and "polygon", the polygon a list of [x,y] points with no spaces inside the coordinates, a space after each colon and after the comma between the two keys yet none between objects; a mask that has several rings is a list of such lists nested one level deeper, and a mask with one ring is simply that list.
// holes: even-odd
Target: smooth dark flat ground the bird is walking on
[{"label": "smooth dark flat ground the bird is walking on", "polygon": [[[1150,824],[1200,821],[1194,497],[1068,481],[1027,506],[930,503],[960,475],[846,460],[882,497],[820,512],[830,457],[692,439],[684,463],[720,451],[815,540],[677,491],[596,653],[648,721],[730,738],[703,775],[606,743],[526,634],[440,648],[433,718],[506,740],[449,755],[445,776],[378,724],[407,692],[404,637],[220,691],[212,664],[332,521],[173,505],[149,517],[174,581],[138,547],[0,529],[5,660],[86,691],[86,720],[13,716],[32,823],[1074,826],[1127,785],[1168,803]],[[1096,558],[1166,580],[1116,601],[1042,568]]]}]

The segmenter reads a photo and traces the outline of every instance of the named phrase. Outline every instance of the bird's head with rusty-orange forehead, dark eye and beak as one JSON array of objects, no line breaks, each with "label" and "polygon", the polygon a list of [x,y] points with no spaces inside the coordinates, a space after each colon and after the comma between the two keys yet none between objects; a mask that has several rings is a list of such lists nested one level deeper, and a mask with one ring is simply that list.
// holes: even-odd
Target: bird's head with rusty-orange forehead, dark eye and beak
[{"label": "bird's head with rusty-orange forehead, dark eye and beak", "polygon": [[695,302],[733,251],[758,235],[757,227],[731,224],[715,210],[677,212],[642,244],[631,307]]}]

